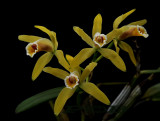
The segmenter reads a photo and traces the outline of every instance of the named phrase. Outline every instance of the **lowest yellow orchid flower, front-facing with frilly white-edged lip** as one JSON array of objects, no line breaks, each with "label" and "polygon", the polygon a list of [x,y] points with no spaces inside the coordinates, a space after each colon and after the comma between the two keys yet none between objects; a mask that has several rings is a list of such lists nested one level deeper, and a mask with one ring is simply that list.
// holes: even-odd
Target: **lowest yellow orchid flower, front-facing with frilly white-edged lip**
[{"label": "lowest yellow orchid flower, front-facing with frilly white-edged lip", "polygon": [[[63,52],[61,50],[57,50],[57,51],[59,54],[61,53],[61,55],[63,55]],[[90,63],[88,66],[86,66],[86,68],[81,73],[79,67],[74,68],[70,65],[74,60],[72,56],[66,55],[66,59],[68,62],[65,60],[64,56],[61,56],[61,58],[58,58],[60,64],[64,68],[66,68],[67,71],[64,71],[58,68],[52,68],[52,67],[45,67],[43,69],[44,72],[47,72],[49,74],[52,74],[64,80],[64,83],[66,86],[59,93],[55,101],[55,105],[54,105],[55,115],[59,115],[66,101],[74,94],[74,92],[78,87],[80,87],[82,90],[92,95],[102,103],[109,105],[110,101],[107,98],[107,96],[95,84],[85,81],[85,79],[90,75],[93,69],[97,66],[97,63],[95,62]]]}]

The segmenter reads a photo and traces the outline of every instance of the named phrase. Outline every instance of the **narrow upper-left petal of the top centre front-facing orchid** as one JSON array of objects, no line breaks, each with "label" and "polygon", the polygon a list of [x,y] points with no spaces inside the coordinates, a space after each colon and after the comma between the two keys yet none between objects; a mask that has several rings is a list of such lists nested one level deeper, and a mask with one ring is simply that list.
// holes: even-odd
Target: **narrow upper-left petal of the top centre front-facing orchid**
[{"label": "narrow upper-left petal of the top centre front-facing orchid", "polygon": [[88,36],[83,29],[74,26],[73,30],[82,38],[82,40],[84,40],[88,45],[90,45],[91,47],[94,47],[94,42],[93,40],[90,38],[90,36]]}]

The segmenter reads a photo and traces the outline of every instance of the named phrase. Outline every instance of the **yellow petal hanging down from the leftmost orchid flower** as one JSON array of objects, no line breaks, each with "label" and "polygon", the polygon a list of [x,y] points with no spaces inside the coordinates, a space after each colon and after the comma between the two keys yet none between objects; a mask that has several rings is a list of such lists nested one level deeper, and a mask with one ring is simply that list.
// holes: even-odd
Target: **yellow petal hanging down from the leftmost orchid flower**
[{"label": "yellow petal hanging down from the leftmost orchid flower", "polygon": [[32,72],[32,80],[34,81],[39,74],[42,72],[43,68],[50,62],[53,54],[51,52],[47,52],[43,54],[36,62],[33,72]]}]

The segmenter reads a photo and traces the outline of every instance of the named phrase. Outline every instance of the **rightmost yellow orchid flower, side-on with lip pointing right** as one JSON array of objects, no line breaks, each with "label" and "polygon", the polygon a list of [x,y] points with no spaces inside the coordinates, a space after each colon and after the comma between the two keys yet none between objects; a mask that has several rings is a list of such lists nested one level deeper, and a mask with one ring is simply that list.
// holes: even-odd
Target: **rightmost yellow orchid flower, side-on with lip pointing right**
[{"label": "rightmost yellow orchid flower, side-on with lip pointing right", "polygon": [[[120,48],[127,52],[129,54],[129,57],[132,61],[132,63],[136,66],[137,62],[133,53],[133,49],[129,44],[126,42],[122,41],[124,39],[127,39],[128,37],[133,37],[133,36],[143,36],[144,38],[147,38],[149,35],[146,31],[146,29],[143,27],[144,24],[147,23],[146,19],[139,20],[136,22],[132,22],[128,25],[122,26],[121,28],[118,28],[119,24],[126,19],[130,14],[132,14],[136,9],[133,9],[125,14],[122,14],[121,16],[117,17],[114,22],[113,22],[113,29],[118,29],[119,34],[114,40],[114,45],[116,48],[117,53],[119,53]],[[119,48],[119,47],[120,48]]]}]

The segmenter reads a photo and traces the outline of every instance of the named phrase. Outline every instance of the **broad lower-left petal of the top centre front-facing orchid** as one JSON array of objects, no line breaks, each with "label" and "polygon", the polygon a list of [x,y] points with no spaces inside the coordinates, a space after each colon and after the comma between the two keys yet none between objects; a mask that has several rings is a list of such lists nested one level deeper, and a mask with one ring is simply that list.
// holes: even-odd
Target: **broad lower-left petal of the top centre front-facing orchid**
[{"label": "broad lower-left petal of the top centre front-facing orchid", "polygon": [[79,66],[86,59],[91,57],[96,50],[94,48],[84,48],[82,49],[73,59],[71,63],[71,68]]}]

